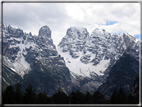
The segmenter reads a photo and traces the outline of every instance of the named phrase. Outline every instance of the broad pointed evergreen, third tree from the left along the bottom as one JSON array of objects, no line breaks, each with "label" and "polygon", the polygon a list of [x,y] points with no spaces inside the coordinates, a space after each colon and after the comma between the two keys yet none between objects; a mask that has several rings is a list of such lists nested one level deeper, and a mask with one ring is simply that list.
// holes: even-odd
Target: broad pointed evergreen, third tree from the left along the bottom
[{"label": "broad pointed evergreen, third tree from the left along the bottom", "polygon": [[29,84],[29,86],[26,88],[26,91],[23,95],[23,103],[24,104],[34,104],[36,102],[36,93],[33,89],[32,85]]}]

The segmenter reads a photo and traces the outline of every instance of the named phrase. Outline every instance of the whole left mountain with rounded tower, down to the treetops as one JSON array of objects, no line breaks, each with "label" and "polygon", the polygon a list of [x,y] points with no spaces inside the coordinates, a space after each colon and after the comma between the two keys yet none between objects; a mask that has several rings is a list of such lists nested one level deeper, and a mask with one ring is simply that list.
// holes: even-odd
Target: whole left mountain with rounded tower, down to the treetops
[{"label": "whole left mountain with rounded tower, down to the treetops", "polygon": [[[45,91],[49,95],[59,87],[65,92],[70,90],[72,82],[69,69],[53,44],[51,30],[48,26],[41,27],[38,36],[6,25],[3,29],[3,63],[23,78],[20,82],[25,87],[31,82],[37,92]],[[51,74],[47,75],[47,71]],[[41,77],[37,74],[41,74]],[[46,78],[51,78],[47,84]],[[49,91],[51,82],[54,82],[53,90]]]}]

